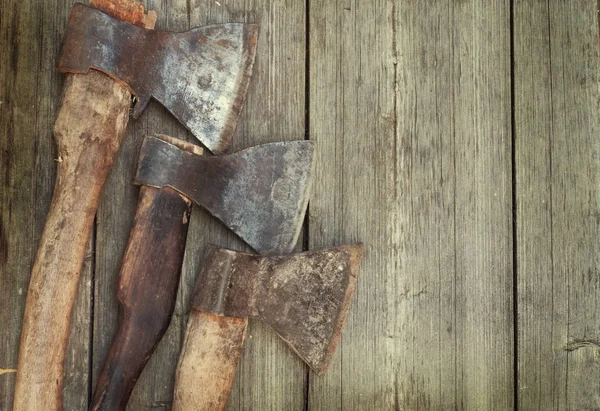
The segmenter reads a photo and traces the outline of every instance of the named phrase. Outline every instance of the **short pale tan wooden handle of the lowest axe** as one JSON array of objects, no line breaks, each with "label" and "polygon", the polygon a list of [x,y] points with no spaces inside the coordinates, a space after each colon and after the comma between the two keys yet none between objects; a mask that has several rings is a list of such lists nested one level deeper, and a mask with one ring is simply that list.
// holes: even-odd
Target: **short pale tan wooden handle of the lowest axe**
[{"label": "short pale tan wooden handle of the lowest axe", "polygon": [[172,411],[225,408],[248,319],[192,309],[177,362]]}]

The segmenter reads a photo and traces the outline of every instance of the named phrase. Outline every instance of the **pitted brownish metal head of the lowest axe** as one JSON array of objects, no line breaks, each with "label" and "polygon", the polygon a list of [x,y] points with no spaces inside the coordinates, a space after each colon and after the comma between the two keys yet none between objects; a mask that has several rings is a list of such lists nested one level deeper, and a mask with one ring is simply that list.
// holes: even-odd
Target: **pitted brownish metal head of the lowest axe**
[{"label": "pitted brownish metal head of the lowest axe", "polygon": [[356,287],[362,244],[287,256],[209,246],[192,307],[264,321],[319,375],[326,372]]}]

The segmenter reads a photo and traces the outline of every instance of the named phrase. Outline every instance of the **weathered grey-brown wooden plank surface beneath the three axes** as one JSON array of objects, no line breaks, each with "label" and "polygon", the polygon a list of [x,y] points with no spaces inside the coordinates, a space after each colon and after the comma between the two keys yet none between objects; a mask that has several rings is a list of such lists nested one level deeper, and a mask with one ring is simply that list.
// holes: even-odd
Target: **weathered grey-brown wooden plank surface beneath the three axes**
[{"label": "weathered grey-brown wooden plank surface beneath the three axes", "polygon": [[[0,4],[0,409],[55,176],[54,70],[73,0]],[[314,376],[253,322],[228,409],[600,409],[600,117],[592,0],[148,1],[158,28],[256,22],[235,149],[310,138],[298,249],[363,241],[333,365]],[[132,121],[74,313],[65,409],[84,410],[113,332],[145,133],[191,140],[158,104]],[[175,316],[130,410],[169,409],[207,243],[193,212]],[[157,258],[160,258],[157,256]],[[149,262],[150,264],[151,262]]]}]

